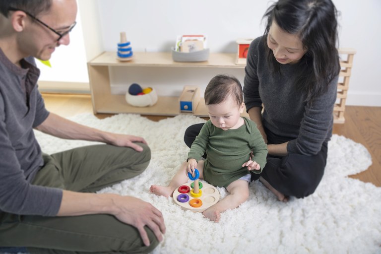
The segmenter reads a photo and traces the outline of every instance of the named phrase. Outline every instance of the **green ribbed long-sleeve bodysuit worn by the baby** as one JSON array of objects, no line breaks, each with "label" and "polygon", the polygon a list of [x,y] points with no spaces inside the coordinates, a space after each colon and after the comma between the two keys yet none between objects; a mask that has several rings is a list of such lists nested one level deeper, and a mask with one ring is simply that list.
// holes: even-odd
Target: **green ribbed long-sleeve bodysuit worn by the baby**
[{"label": "green ribbed long-sleeve bodysuit worn by the baby", "polygon": [[191,145],[188,158],[198,161],[206,152],[204,180],[211,185],[226,188],[249,174],[248,168],[242,165],[250,160],[252,151],[252,160],[260,165],[260,170],[251,172],[261,173],[266,164],[267,145],[262,135],[253,121],[243,119],[243,126],[228,130],[215,127],[208,120]]}]

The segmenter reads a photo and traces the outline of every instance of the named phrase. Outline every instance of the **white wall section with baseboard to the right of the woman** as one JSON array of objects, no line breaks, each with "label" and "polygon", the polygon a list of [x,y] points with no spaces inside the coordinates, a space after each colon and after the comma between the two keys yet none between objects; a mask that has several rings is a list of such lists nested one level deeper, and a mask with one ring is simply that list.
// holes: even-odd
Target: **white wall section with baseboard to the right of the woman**
[{"label": "white wall section with baseboard to the right of the woman", "polygon": [[357,50],[346,104],[381,106],[381,1],[333,2],[341,12],[339,47]]}]

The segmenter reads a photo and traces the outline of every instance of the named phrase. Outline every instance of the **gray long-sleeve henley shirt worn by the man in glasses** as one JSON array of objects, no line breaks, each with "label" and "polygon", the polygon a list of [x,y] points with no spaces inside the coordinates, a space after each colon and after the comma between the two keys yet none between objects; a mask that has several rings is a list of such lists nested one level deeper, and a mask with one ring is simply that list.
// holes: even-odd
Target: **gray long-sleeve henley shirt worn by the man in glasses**
[{"label": "gray long-sleeve henley shirt worn by the man in glasses", "polygon": [[54,216],[62,191],[31,185],[44,163],[33,128],[49,115],[37,89],[40,70],[20,63],[22,68],[0,49],[0,211]]}]

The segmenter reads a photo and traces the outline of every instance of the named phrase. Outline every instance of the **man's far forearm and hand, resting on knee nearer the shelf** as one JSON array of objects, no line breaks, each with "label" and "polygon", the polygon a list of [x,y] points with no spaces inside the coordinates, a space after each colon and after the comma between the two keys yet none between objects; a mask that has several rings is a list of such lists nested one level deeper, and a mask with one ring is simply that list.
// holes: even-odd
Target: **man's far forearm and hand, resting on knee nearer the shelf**
[{"label": "man's far forearm and hand, resting on knee nearer the shelf", "polygon": [[134,142],[147,144],[142,137],[116,134],[83,126],[54,113],[50,113],[48,118],[41,125],[36,127],[36,129],[60,138],[98,141],[116,146],[127,146],[138,152],[141,152],[143,149]]}]

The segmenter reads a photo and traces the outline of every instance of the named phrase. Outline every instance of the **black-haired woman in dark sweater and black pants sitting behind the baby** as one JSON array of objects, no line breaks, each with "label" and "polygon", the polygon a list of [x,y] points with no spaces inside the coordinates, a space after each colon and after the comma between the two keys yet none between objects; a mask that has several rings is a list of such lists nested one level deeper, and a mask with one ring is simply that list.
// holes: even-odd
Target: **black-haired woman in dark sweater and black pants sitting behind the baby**
[{"label": "black-haired woman in dark sweater and black pants sitting behind the baby", "polygon": [[[252,180],[282,201],[312,194],[324,173],[340,71],[336,16],[331,0],[279,0],[249,48],[246,110],[268,149],[263,172]],[[187,129],[188,146],[201,127]]]}]

